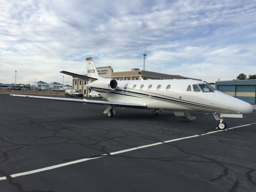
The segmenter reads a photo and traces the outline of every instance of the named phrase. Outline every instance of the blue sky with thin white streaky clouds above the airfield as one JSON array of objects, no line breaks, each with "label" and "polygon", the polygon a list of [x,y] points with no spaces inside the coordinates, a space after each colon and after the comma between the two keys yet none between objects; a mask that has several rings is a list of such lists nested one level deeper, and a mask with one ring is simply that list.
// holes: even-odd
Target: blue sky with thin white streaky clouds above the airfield
[{"label": "blue sky with thin white streaky clouds above the airfield", "polygon": [[[62,82],[86,57],[114,71],[232,80],[256,74],[256,2],[0,0],[0,83]],[[64,83],[72,78],[64,75]]]}]

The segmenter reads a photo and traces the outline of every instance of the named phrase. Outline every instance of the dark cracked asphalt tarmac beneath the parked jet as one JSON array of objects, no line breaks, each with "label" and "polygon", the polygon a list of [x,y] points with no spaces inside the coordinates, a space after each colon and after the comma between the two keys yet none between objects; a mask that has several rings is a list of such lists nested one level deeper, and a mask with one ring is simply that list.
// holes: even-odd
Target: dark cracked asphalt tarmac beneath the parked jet
[{"label": "dark cracked asphalt tarmac beneath the parked jet", "polygon": [[256,191],[255,110],[216,132],[211,114],[105,108],[0,94],[0,192]]}]

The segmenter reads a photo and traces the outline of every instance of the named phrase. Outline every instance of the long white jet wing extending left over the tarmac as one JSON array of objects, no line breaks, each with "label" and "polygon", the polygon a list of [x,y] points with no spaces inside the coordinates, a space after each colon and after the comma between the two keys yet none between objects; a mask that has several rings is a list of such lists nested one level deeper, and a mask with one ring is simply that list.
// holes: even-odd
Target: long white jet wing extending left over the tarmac
[{"label": "long white jet wing extending left over the tarmac", "polygon": [[123,103],[123,102],[110,102],[101,100],[87,100],[87,99],[72,99],[72,98],[60,98],[60,97],[44,97],[44,96],[30,96],[30,95],[16,95],[10,94],[14,97],[25,97],[25,98],[37,98],[37,99],[50,99],[59,101],[69,101],[69,102],[82,102],[88,104],[98,104],[98,105],[112,105],[118,107],[129,107],[129,108],[146,108],[146,104],[136,104],[136,103]]}]

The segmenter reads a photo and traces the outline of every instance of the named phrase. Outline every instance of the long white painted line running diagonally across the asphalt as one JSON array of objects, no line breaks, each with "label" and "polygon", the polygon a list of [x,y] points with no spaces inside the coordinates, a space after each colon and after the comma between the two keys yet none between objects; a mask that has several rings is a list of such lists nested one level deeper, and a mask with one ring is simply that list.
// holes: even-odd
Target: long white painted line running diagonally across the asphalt
[{"label": "long white painted line running diagonally across the asphalt", "polygon": [[[234,129],[234,128],[238,128],[238,127],[249,126],[249,125],[252,125],[252,124],[256,124],[256,123],[251,123],[251,124],[231,127],[231,128],[228,128],[228,129]],[[204,133],[204,134],[200,134],[200,135],[193,135],[193,136],[182,137],[182,138],[172,139],[172,140],[168,140],[168,141],[148,144],[148,145],[144,145],[144,146],[134,147],[134,148],[126,149],[126,150],[112,152],[112,153],[110,153],[110,155],[125,153],[125,152],[128,152],[128,151],[138,150],[138,149],[141,149],[141,148],[146,148],[146,147],[150,147],[150,146],[156,146],[156,145],[165,144],[165,143],[174,142],[174,141],[179,141],[179,140],[184,140],[184,139],[188,139],[188,138],[204,136],[204,135],[207,135],[207,134],[217,133],[217,132],[221,132],[221,131],[224,131],[224,130],[217,130],[217,131],[212,131],[212,132],[208,132],[208,133]],[[54,165],[54,166],[50,166],[50,167],[45,167],[45,168],[36,169],[36,170],[32,170],[32,171],[12,174],[10,176],[12,178],[14,178],[14,177],[18,177],[18,176],[23,176],[23,175],[33,174],[33,173],[42,172],[42,171],[46,171],[46,170],[56,169],[56,168],[59,168],[59,167],[63,167],[63,166],[71,165],[71,164],[76,164],[76,163],[80,163],[80,162],[84,162],[84,161],[88,161],[88,160],[92,160],[92,159],[98,159],[98,158],[102,158],[102,157],[106,157],[106,156],[107,156],[107,154],[102,154],[101,157],[84,158],[84,159],[80,159],[80,160],[76,160],[76,161],[71,161],[71,162],[67,162],[67,163],[62,163],[62,164],[58,164],[58,165]],[[0,177],[0,180],[6,180],[6,179],[7,179],[6,177]]]}]

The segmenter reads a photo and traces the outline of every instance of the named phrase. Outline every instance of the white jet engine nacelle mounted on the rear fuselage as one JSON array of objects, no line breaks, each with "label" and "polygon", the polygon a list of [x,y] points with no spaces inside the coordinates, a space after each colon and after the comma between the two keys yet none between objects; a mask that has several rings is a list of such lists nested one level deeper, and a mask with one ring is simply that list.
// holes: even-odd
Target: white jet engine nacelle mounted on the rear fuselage
[{"label": "white jet engine nacelle mounted on the rear fuselage", "polygon": [[117,88],[117,81],[112,78],[98,79],[86,86],[97,92],[111,92]]}]

